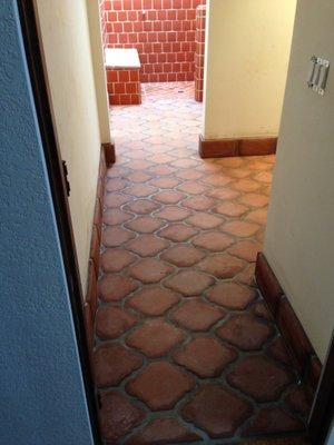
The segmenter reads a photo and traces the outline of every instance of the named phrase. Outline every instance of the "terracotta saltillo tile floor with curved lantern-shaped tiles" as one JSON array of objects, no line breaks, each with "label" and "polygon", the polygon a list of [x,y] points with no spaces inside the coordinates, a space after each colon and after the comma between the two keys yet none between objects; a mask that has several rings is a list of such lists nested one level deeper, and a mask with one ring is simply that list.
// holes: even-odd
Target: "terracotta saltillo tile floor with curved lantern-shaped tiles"
[{"label": "terracotta saltillo tile floor with curved lantern-shaped tiles", "polygon": [[254,283],[274,157],[199,159],[193,83],[111,109],[95,373],[106,444],[303,432],[307,393]]}]

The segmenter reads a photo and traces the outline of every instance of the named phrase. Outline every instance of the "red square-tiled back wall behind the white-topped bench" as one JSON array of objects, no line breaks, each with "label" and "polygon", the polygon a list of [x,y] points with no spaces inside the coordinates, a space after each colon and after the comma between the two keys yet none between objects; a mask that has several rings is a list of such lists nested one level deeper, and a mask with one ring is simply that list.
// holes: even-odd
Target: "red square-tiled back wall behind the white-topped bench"
[{"label": "red square-tiled back wall behind the white-topped bench", "polygon": [[141,82],[194,80],[196,8],[205,2],[100,0],[104,44],[137,48]]}]

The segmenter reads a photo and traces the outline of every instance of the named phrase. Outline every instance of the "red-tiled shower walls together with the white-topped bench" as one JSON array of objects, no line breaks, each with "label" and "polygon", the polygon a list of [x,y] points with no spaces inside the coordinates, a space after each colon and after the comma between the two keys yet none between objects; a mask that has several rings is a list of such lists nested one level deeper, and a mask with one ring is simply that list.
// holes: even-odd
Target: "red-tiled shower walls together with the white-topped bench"
[{"label": "red-tiled shower walls together with the white-topped bench", "polygon": [[203,101],[206,0],[99,0],[109,105],[138,105],[146,86],[191,82]]}]

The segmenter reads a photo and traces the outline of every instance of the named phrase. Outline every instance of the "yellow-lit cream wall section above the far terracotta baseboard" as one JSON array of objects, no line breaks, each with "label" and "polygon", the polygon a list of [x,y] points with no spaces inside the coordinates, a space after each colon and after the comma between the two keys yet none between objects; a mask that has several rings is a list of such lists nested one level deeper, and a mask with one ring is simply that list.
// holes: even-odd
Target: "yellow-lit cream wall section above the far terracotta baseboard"
[{"label": "yellow-lit cream wall section above the far terracotta baseboard", "polygon": [[209,0],[204,138],[277,136],[296,0]]}]

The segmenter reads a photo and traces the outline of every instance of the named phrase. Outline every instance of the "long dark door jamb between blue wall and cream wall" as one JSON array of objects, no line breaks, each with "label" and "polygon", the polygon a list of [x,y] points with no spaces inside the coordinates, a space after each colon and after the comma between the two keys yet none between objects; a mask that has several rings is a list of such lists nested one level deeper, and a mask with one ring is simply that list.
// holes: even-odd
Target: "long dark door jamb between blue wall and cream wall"
[{"label": "long dark door jamb between blue wall and cream wall", "polygon": [[[18,0],[18,8],[30,82],[33,92],[33,100],[38,116],[39,129],[42,139],[57,219],[91,431],[95,444],[100,445],[101,438],[98,424],[97,400],[95,396],[95,386],[88,349],[88,343],[90,339],[87,338],[85,329],[84,298],[66,190],[66,180],[57,140],[56,127],[53,125],[50,95],[45,71],[42,48],[39,39],[38,22],[35,16],[33,0]],[[59,427],[61,427],[61,425]]]}]

